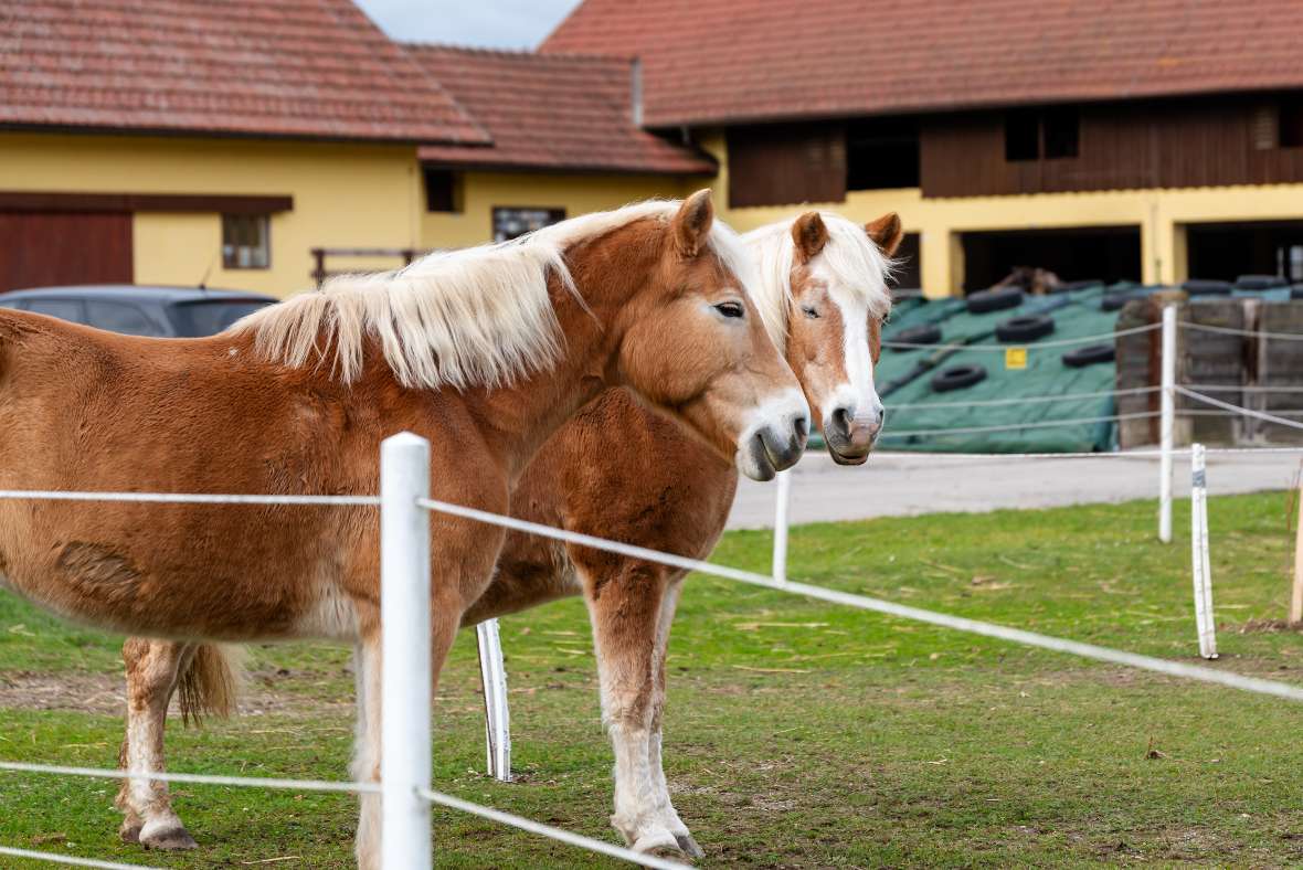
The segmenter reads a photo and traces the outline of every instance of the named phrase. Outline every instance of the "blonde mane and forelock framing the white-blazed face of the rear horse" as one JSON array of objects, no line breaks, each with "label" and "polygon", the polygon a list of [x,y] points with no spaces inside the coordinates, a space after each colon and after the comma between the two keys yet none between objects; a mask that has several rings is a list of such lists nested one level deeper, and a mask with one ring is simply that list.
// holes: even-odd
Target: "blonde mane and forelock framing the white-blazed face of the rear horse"
[{"label": "blonde mane and forelock framing the white-blazed face of the rear horse", "polygon": [[[827,227],[827,244],[820,258],[838,283],[859,293],[874,316],[886,316],[891,310],[891,292],[887,280],[895,260],[882,253],[864,227],[830,211],[820,218]],[[792,221],[780,220],[753,229],[741,237],[756,263],[758,279],[753,300],[765,322],[769,337],[779,348],[787,344],[787,316],[792,301],[792,266],[796,263],[796,242],[792,240]]]}]

